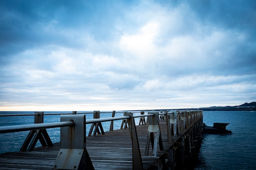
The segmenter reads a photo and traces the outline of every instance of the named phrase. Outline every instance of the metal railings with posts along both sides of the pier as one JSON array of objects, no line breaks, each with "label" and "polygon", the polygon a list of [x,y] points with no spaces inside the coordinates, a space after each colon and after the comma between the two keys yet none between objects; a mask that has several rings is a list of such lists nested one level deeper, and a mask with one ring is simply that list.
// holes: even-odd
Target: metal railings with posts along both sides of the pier
[{"label": "metal railings with posts along both sides of the pier", "polygon": [[[147,112],[148,114],[144,114]],[[19,131],[26,131],[30,130],[30,133],[25,140],[24,144],[22,145],[22,149],[20,151],[31,151],[31,148],[33,150],[36,142],[38,139],[40,139],[40,136],[34,136],[36,135],[46,135],[45,133],[47,128],[56,128],[61,127],[61,149],[59,151],[59,154],[56,158],[55,164],[53,169],[73,169],[74,166],[76,167],[84,167],[89,166],[93,169],[90,156],[88,155],[88,152],[86,150],[86,124],[92,124],[90,128],[89,135],[92,134],[92,131],[94,129],[94,134],[99,134],[99,128],[101,129],[101,133],[104,134],[103,127],[101,125],[101,122],[106,121],[116,121],[116,120],[123,120],[125,124],[128,125],[130,137],[132,140],[132,164],[133,169],[142,170],[142,160],[141,160],[141,153],[139,149],[139,141],[137,137],[136,132],[136,126],[135,126],[135,118],[144,118],[148,117],[148,134],[147,134],[147,141],[145,146],[145,156],[149,156],[149,148],[152,146],[153,150],[153,157],[157,156],[157,150],[158,148],[160,150],[163,150],[163,143],[162,143],[162,137],[160,133],[159,128],[159,119],[166,121],[167,125],[167,131],[168,131],[168,143],[173,143],[174,139],[176,139],[177,135],[179,135],[179,132],[184,132],[185,129],[188,129],[193,126],[196,122],[200,120],[200,123],[195,126],[195,128],[200,129],[201,127],[201,119],[202,119],[202,110],[164,110],[164,111],[143,111],[143,114],[141,111],[134,112],[134,113],[141,113],[141,115],[133,115],[131,112],[121,112],[124,113],[124,116],[114,117],[115,111],[113,112],[103,112],[103,113],[113,113],[112,117],[108,118],[99,118],[100,112],[94,111],[91,112],[94,113],[94,119],[85,119],[86,113],[64,113],[61,115],[61,122],[54,122],[54,123],[43,123],[43,116],[44,115],[59,115],[60,113],[56,114],[50,114],[43,112],[35,112],[35,114],[23,114],[24,116],[27,115],[34,115],[35,116],[35,124],[28,124],[28,125],[15,125],[15,126],[1,126],[0,127],[0,133],[6,133],[6,132],[19,132]],[[2,115],[0,115],[2,116]],[[14,116],[14,115],[4,115],[4,116]],[[20,116],[20,115],[15,115]],[[177,119],[180,121],[180,126],[177,127]],[[75,128],[76,127],[76,128]],[[47,134],[48,135],[48,134]],[[47,135],[44,136],[44,138],[47,138]],[[153,140],[150,138],[154,138]],[[31,141],[32,139],[32,141]],[[33,141],[33,139],[35,139]],[[41,142],[41,141],[40,141]],[[153,144],[150,145],[150,142],[153,142]],[[27,146],[29,146],[29,149],[27,150]],[[41,142],[45,143],[45,142]],[[42,144],[43,146],[43,144]],[[48,145],[49,146],[49,145]],[[25,149],[24,149],[25,148]],[[77,156],[77,153],[83,153],[80,154],[79,157]],[[86,155],[86,156],[85,156]],[[63,160],[69,160],[74,159],[74,161],[69,161],[70,163],[65,163]],[[86,160],[86,161],[81,161]],[[89,163],[86,165],[86,163]],[[74,165],[75,164],[75,165]]]}]

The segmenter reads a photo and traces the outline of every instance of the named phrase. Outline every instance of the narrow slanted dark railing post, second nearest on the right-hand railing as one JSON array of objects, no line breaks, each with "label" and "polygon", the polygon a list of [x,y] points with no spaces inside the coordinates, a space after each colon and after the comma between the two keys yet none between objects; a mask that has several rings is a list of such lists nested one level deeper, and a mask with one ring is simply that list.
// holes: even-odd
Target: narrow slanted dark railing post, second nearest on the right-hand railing
[{"label": "narrow slanted dark railing post, second nearest on the right-hand railing", "polygon": [[127,122],[130,131],[130,137],[132,139],[132,169],[143,170],[141,153],[139,150],[139,141],[133,114],[125,112],[124,116],[130,116],[130,119],[127,119]]}]

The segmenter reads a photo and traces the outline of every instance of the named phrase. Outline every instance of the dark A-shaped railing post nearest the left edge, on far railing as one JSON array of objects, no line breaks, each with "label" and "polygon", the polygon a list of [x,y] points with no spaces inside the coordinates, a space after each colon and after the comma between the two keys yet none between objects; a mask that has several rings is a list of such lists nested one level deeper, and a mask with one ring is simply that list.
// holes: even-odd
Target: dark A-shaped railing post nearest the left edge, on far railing
[{"label": "dark A-shaped railing post nearest the left edge, on far railing", "polygon": [[[42,124],[44,112],[35,112],[35,114],[36,115],[34,118],[34,123]],[[29,134],[27,135],[27,138],[25,139],[24,143],[20,148],[20,152],[32,151],[35,148],[38,139],[42,146],[53,146],[46,129],[30,130]]]}]

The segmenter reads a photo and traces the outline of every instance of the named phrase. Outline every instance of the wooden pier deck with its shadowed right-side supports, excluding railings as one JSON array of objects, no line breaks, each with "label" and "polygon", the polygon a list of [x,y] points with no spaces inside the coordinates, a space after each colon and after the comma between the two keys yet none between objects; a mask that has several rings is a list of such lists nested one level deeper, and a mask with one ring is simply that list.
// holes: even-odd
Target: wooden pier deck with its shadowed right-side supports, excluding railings
[{"label": "wooden pier deck with its shadowed right-side supports, excluding railings", "polygon": [[[168,142],[166,120],[159,121],[162,146],[157,155],[150,147],[144,155],[147,143],[148,124],[137,125],[137,137],[144,170],[193,169],[202,139],[202,118],[186,123],[173,142]],[[183,123],[182,123],[183,124]],[[180,127],[177,119],[177,127]],[[174,138],[175,137],[175,138]],[[95,170],[132,170],[132,140],[129,128],[118,129],[86,137],[86,149]],[[7,152],[0,154],[0,170],[52,170],[60,151],[60,143],[53,147],[34,148],[31,152]],[[76,168],[74,168],[76,169]]]}]

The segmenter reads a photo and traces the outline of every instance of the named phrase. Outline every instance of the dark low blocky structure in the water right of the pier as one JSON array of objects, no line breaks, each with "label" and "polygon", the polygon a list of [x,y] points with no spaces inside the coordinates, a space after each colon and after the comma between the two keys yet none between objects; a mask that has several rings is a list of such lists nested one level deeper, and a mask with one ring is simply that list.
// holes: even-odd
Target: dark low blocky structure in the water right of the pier
[{"label": "dark low blocky structure in the water right of the pier", "polygon": [[203,133],[204,134],[231,134],[231,130],[227,130],[227,123],[213,123],[212,126],[203,125]]}]

